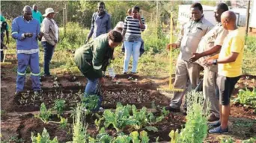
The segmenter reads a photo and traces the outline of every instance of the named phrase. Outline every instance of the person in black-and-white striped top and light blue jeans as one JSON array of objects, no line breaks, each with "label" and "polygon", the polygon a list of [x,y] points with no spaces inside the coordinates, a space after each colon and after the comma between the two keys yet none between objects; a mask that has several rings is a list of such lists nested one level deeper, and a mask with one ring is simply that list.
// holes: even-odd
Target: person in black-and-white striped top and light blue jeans
[{"label": "person in black-and-white striped top and light blue jeans", "polygon": [[132,74],[136,73],[141,48],[141,31],[144,29],[144,18],[141,18],[139,14],[139,7],[132,7],[132,16],[126,17],[122,32],[125,47],[124,74],[127,74],[131,55],[133,57]]}]

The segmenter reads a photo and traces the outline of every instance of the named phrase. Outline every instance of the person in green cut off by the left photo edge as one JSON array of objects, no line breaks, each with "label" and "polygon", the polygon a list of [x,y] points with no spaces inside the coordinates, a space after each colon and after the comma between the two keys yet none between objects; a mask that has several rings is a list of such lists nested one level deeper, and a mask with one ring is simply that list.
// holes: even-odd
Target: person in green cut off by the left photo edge
[{"label": "person in green cut off by the left photo edge", "polygon": [[9,26],[7,25],[6,20],[4,19],[4,16],[0,14],[0,26],[1,26],[1,62],[4,60],[4,48],[7,48],[4,45],[4,32],[7,36],[7,43],[9,43]]}]

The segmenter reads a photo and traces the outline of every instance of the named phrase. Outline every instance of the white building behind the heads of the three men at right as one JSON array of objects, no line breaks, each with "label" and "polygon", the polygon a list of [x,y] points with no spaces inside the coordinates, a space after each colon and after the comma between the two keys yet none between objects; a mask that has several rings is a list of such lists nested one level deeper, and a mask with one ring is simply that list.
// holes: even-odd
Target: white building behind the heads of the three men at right
[{"label": "white building behind the heads of the three men at right", "polygon": [[[178,22],[180,23],[180,25],[183,25],[189,21],[190,6],[191,5],[189,4],[179,5]],[[216,19],[214,17],[214,12],[213,12],[214,9],[215,7],[203,5],[204,18],[207,19],[209,22],[213,23],[213,25],[216,25]],[[234,13],[236,13],[237,15],[237,25],[242,27],[246,26],[246,8],[234,8],[231,10],[233,10]],[[256,13],[256,8],[255,8],[255,13]]]}]

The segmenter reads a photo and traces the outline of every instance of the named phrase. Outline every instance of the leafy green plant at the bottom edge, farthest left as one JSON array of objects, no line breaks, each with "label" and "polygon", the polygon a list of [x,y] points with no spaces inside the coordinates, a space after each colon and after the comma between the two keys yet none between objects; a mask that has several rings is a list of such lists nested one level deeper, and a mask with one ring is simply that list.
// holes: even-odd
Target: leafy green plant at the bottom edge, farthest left
[{"label": "leafy green plant at the bottom edge, farthest left", "polygon": [[40,133],[37,133],[37,136],[34,136],[34,133],[31,133],[31,140],[32,143],[58,143],[57,136],[53,140],[49,138],[49,133],[47,132],[46,128],[43,128],[42,136]]}]

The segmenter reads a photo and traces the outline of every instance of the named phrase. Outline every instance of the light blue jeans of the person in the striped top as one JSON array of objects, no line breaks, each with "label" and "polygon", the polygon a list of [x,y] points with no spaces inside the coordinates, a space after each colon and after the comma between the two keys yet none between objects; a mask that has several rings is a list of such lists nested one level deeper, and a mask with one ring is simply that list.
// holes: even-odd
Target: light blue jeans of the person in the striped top
[{"label": "light blue jeans of the person in the striped top", "polygon": [[141,48],[141,41],[129,42],[124,41],[125,55],[124,55],[124,72],[128,71],[129,59],[132,56],[132,72],[137,71],[139,49]]}]

